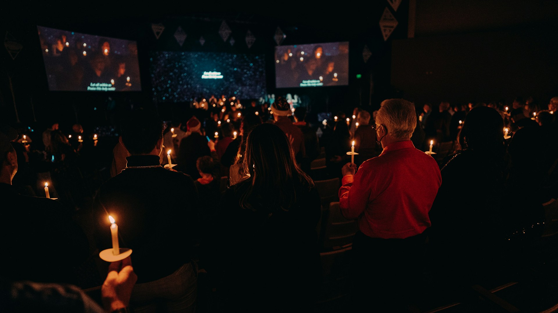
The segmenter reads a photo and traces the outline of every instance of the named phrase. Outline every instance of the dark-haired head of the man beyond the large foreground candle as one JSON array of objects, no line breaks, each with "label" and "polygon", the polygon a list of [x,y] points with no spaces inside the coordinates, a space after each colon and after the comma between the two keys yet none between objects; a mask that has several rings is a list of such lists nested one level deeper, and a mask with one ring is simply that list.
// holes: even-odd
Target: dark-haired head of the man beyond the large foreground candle
[{"label": "dark-haired head of the man beyond the large foreground candle", "polygon": [[122,125],[122,143],[132,155],[149,154],[163,136],[165,126],[155,112],[134,110]]}]

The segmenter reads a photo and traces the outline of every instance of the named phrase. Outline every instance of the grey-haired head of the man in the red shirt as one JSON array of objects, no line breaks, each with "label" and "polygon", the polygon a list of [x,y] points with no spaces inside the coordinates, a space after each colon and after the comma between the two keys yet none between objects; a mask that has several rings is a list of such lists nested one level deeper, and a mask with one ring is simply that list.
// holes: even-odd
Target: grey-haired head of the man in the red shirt
[{"label": "grey-haired head of the man in the red shirt", "polygon": [[408,140],[417,125],[415,105],[405,99],[384,100],[376,114],[376,124],[386,126],[393,138]]}]

